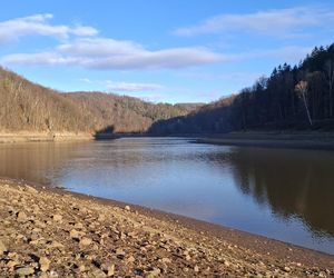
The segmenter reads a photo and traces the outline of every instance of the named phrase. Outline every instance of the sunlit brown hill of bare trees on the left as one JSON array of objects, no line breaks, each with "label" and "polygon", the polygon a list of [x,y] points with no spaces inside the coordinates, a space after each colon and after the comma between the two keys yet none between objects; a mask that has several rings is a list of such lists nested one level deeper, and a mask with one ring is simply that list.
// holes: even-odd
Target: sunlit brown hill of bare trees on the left
[{"label": "sunlit brown hill of bare trees on the left", "polygon": [[0,68],[0,132],[144,132],[200,105],[154,105],[102,92],[60,93]]}]

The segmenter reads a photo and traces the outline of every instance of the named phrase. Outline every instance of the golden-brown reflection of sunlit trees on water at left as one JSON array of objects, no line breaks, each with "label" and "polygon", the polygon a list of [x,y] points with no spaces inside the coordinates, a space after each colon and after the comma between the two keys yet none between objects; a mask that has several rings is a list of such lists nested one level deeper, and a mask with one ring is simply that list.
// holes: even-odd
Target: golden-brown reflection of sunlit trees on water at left
[{"label": "golden-brown reflection of sunlit trees on water at left", "polygon": [[52,169],[61,167],[78,142],[29,142],[0,145],[0,177],[49,185]]}]

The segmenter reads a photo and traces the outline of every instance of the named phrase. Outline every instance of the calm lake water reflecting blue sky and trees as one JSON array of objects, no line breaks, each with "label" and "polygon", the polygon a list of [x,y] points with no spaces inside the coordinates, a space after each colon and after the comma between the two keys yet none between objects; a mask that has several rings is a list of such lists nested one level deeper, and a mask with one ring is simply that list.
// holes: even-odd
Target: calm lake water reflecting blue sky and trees
[{"label": "calm lake water reflecting blue sky and trees", "polygon": [[0,176],[334,255],[334,151],[198,145],[183,138],[0,145]]}]

